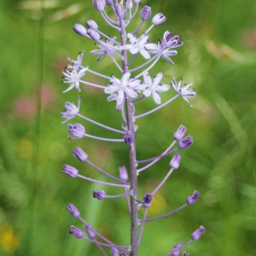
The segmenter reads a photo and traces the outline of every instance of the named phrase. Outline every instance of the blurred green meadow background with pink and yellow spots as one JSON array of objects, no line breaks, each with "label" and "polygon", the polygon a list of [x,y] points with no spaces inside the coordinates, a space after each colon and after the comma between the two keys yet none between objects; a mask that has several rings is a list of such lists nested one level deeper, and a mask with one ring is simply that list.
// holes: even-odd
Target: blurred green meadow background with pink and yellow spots
[{"label": "blurred green meadow background with pink and yellow spots", "polygon": [[[159,113],[137,121],[138,159],[160,154],[180,124],[187,126],[195,140],[181,153],[180,168],[155,195],[148,216],[183,205],[195,189],[201,192],[201,199],[173,216],[148,223],[139,254],[171,252],[177,241],[188,241],[203,224],[206,234],[185,248],[191,255],[255,255],[256,3],[142,0],[143,5],[150,5],[153,14],[162,12],[167,17],[150,33],[152,41],[166,30],[183,41],[172,58],[175,65],[161,60],[152,74],[162,71],[166,84],[172,77],[182,77],[185,83],[195,84],[197,93],[190,101],[194,108],[177,99]],[[67,212],[69,202],[102,235],[116,243],[129,243],[125,201],[93,200],[91,191],[105,188],[61,172],[69,164],[84,175],[105,179],[74,159],[72,151],[78,145],[92,162],[113,174],[119,166],[127,166],[124,145],[87,138],[70,141],[67,125],[61,125],[64,103],[78,100],[74,90],[62,93],[67,89],[61,84],[67,57],[76,59],[86,49],[84,65],[114,72],[107,58],[96,62],[96,56],[90,56],[93,43],[73,32],[75,23],[95,19],[102,31],[111,34],[96,15],[90,0],[0,1],[1,255],[102,255],[90,242],[68,234],[71,224],[83,228]],[[100,90],[83,89],[81,113],[119,128],[114,103],[108,103]],[[163,96],[163,100],[167,98]],[[154,106],[147,99],[138,105],[137,113]],[[71,123],[76,121],[79,119]],[[84,125],[91,134],[113,136]],[[141,196],[165,176],[170,159],[140,175]]]}]

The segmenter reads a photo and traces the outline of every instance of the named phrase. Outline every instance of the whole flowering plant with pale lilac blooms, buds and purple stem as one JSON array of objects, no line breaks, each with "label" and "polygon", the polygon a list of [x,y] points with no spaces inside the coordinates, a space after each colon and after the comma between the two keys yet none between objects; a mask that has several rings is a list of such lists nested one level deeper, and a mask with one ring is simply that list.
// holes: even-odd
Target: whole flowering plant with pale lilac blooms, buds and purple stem
[{"label": "whole flowering plant with pale lilac blooms, buds and purple stem", "polygon": [[[102,236],[96,231],[96,227],[91,227],[84,218],[81,217],[79,210],[72,204],[67,205],[67,210],[72,213],[74,218],[79,218],[84,224],[84,230],[87,236],[84,235],[84,231],[80,230],[74,226],[71,226],[69,232],[78,238],[84,238],[96,244],[101,250],[103,255],[138,255],[138,248],[142,241],[144,226],[147,222],[153,221],[159,218],[164,218],[171,215],[183,207],[194,204],[200,198],[200,193],[194,191],[192,195],[189,195],[187,201],[183,206],[178,207],[171,212],[167,212],[163,215],[156,216],[154,218],[147,218],[148,208],[154,198],[157,191],[166,183],[167,178],[172,174],[172,172],[179,167],[181,161],[181,155],[177,153],[178,150],[188,148],[193,143],[193,137],[186,136],[186,127],[184,125],[179,125],[177,131],[174,132],[173,141],[162,153],[157,154],[154,158],[148,160],[137,160],[137,143],[135,139],[136,132],[139,133],[137,125],[135,122],[137,119],[144,118],[150,113],[158,111],[160,108],[165,107],[170,102],[174,101],[178,96],[181,96],[189,106],[189,98],[195,96],[195,90],[191,89],[193,84],[182,84],[182,79],[178,82],[175,78],[172,79],[172,94],[169,100],[162,103],[160,94],[170,90],[170,85],[161,84],[163,79],[163,73],[159,72],[150,74],[152,67],[161,59],[165,59],[170,64],[173,64],[171,57],[177,55],[177,48],[183,45],[179,41],[179,37],[173,35],[172,32],[164,32],[164,35],[159,39],[157,44],[149,43],[149,32],[154,26],[159,26],[166,20],[166,16],[162,14],[154,15],[151,20],[151,26],[148,27],[147,31],[141,32],[140,28],[143,23],[150,20],[151,8],[144,6],[140,12],[141,23],[131,31],[129,28],[131,20],[138,13],[138,6],[140,0],[93,0],[92,4],[96,11],[102,15],[102,18],[106,21],[108,26],[112,27],[113,30],[117,32],[117,36],[111,38],[103,33],[95,20],[87,20],[85,28],[81,24],[75,24],[73,30],[84,38],[89,38],[96,42],[98,49],[90,51],[91,55],[97,55],[96,60],[101,61],[103,57],[108,57],[110,61],[113,61],[116,71],[112,76],[107,76],[103,73],[98,73],[91,70],[89,66],[83,65],[85,51],[82,51],[78,55],[78,59],[75,61],[73,59],[68,59],[71,64],[67,65],[65,71],[63,72],[63,83],[68,84],[67,92],[69,90],[77,90],[80,92],[80,87],[83,85],[89,85],[102,90],[108,95],[108,102],[116,103],[116,110],[121,114],[123,124],[120,125],[121,129],[114,129],[110,126],[103,125],[96,120],[89,119],[88,117],[82,115],[79,110],[81,97],[79,96],[79,102],[76,106],[72,102],[66,102],[65,111],[61,113],[61,116],[66,120],[62,124],[66,124],[67,121],[73,119],[74,117],[79,117],[94,125],[99,125],[104,129],[113,131],[117,134],[117,138],[107,138],[98,137],[90,135],[85,131],[84,125],[68,124],[68,132],[70,133],[70,139],[81,139],[83,137],[90,137],[92,139],[101,140],[105,142],[112,143],[125,143],[129,149],[129,166],[119,167],[119,177],[115,174],[110,174],[102,170],[99,166],[96,166],[90,160],[88,160],[88,155],[84,152],[82,148],[75,148],[73,150],[73,155],[80,161],[86,162],[90,166],[93,166],[98,172],[102,172],[103,175],[109,177],[113,180],[113,183],[102,182],[99,180],[91,179],[90,177],[84,177],[79,174],[79,171],[69,165],[64,165],[62,172],[66,173],[70,177],[80,177],[85,180],[94,183],[100,183],[102,186],[113,186],[119,189],[124,189],[124,192],[119,195],[108,195],[105,190],[94,190],[92,195],[98,200],[103,200],[105,198],[117,198],[125,197],[128,207],[128,213],[131,217],[131,244],[127,246],[117,245],[113,241],[109,241],[108,238]],[[106,12],[108,9],[112,15],[108,15]],[[119,39],[118,39],[119,38]],[[143,63],[136,65],[137,57],[142,55]],[[97,77],[101,77],[106,80],[106,84],[94,84],[86,80],[86,73],[92,73]],[[152,96],[154,103],[158,106],[149,110],[146,113],[136,113],[137,102],[143,101],[144,98]],[[175,148],[175,145],[177,147]],[[176,153],[176,154],[174,154]],[[150,192],[145,192],[143,199],[138,198],[138,174],[149,167],[154,166],[154,164],[168,156],[169,154],[174,154],[172,160],[170,161],[170,170],[166,173],[166,177],[152,189]],[[128,169],[128,172],[127,172]],[[143,207],[144,213],[143,217],[139,218],[138,209]],[[168,255],[179,255],[183,247],[189,244],[191,241],[198,240],[201,235],[205,232],[205,228],[201,226],[198,230],[195,230],[191,235],[191,239],[185,243],[177,243],[176,246],[172,247]],[[189,255],[189,253],[183,253],[183,255]]]}]

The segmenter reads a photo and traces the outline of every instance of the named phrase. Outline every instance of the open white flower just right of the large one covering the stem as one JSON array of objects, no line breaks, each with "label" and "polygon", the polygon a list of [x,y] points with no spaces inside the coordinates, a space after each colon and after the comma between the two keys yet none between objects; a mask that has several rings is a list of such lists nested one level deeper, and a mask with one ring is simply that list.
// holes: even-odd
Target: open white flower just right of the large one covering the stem
[{"label": "open white flower just right of the large one covering the stem", "polygon": [[160,104],[161,99],[158,94],[159,91],[166,91],[170,89],[170,86],[167,84],[160,84],[160,80],[163,78],[163,73],[158,73],[152,80],[148,74],[148,71],[143,72],[144,84],[146,89],[143,90],[143,95],[148,97],[153,96],[154,102]]}]

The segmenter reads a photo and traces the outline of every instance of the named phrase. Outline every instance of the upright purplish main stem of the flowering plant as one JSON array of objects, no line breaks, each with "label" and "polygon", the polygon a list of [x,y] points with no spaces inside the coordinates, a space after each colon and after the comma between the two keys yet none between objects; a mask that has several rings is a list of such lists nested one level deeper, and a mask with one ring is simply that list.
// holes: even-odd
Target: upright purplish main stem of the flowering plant
[{"label": "upright purplish main stem of the flowering plant", "polygon": [[[124,20],[119,19],[121,44],[126,43],[126,33],[125,33],[125,23]],[[122,50],[123,56],[123,73],[127,73],[127,53],[126,50]],[[129,144],[129,155],[130,155],[130,181],[131,181],[131,256],[137,256],[138,250],[138,209],[137,209],[137,166],[136,166],[136,143],[134,134],[134,124],[133,124],[133,113],[131,106],[131,99],[129,96],[125,96],[125,108],[126,108],[126,119],[127,119],[127,129],[131,131],[134,137],[133,143]]]}]

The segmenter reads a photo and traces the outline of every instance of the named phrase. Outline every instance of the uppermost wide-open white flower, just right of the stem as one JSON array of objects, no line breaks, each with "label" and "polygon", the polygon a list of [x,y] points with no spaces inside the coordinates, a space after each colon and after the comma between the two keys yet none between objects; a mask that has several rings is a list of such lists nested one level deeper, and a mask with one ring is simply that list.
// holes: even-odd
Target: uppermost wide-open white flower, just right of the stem
[{"label": "uppermost wide-open white flower, just right of the stem", "polygon": [[136,38],[131,33],[129,33],[127,34],[127,38],[131,44],[124,45],[122,49],[129,49],[132,55],[136,55],[139,52],[145,59],[150,59],[148,49],[155,49],[156,44],[147,44],[148,36],[143,34],[140,38]]}]

